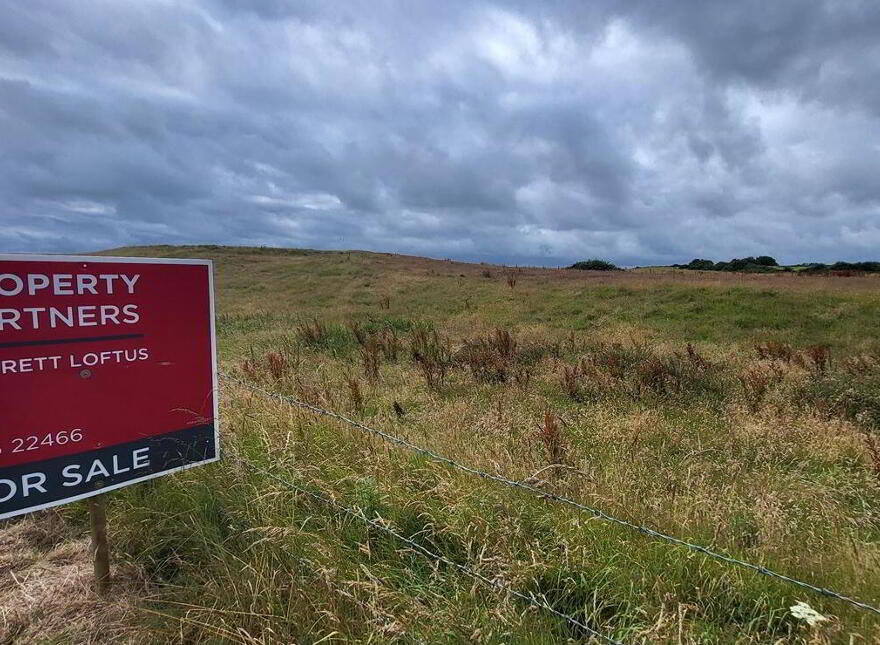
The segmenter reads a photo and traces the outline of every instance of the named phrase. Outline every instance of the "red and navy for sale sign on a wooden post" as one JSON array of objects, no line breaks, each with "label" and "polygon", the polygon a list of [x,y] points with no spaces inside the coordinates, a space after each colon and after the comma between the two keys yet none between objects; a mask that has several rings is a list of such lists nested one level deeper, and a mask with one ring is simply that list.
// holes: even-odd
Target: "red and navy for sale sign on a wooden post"
[{"label": "red and navy for sale sign on a wooden post", "polygon": [[0,519],[216,461],[210,260],[0,254]]}]

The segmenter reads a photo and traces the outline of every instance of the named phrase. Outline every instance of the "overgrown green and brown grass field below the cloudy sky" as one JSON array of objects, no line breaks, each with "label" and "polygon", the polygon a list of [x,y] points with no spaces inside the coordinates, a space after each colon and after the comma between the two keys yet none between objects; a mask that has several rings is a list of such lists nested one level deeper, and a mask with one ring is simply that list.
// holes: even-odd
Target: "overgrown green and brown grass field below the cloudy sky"
[{"label": "overgrown green and brown grass field below the cloudy sky", "polygon": [[[877,277],[108,254],[212,258],[221,369],[238,379],[880,604]],[[83,505],[0,529],[0,572],[55,580],[39,593],[58,608],[5,611],[0,643],[587,642],[261,470],[627,643],[880,642],[870,612],[231,381],[221,415],[222,462],[113,494],[112,602],[58,591],[53,562],[84,557]],[[39,596],[19,587],[0,607]],[[826,620],[793,616],[798,601]]]}]

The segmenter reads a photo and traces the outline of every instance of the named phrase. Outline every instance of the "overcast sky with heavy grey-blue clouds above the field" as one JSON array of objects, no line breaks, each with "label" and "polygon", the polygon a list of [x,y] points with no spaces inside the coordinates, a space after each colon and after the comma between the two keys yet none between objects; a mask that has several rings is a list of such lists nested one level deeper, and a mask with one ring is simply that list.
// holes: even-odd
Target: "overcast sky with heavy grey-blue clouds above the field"
[{"label": "overcast sky with heavy grey-blue clouds above the field", "polygon": [[878,259],[880,2],[27,0],[0,251]]}]

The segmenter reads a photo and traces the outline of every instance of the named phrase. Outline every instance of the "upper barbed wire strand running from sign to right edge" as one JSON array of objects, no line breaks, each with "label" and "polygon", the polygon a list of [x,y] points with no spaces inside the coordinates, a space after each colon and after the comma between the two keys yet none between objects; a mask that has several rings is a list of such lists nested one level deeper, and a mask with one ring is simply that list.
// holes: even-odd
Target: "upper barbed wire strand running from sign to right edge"
[{"label": "upper barbed wire strand running from sign to right edge", "polygon": [[262,394],[262,395],[269,397],[269,398],[277,399],[278,401],[281,401],[282,403],[286,403],[288,405],[293,405],[293,406],[299,407],[301,409],[308,410],[310,412],[313,412],[314,414],[318,414],[321,416],[326,416],[326,417],[330,417],[332,419],[336,419],[337,421],[341,421],[341,422],[343,422],[353,428],[357,428],[358,430],[361,430],[363,432],[367,432],[367,433],[373,434],[377,437],[381,437],[382,439],[384,439],[385,441],[388,441],[389,443],[393,443],[398,446],[403,446],[409,450],[412,450],[413,452],[424,455],[425,457],[428,457],[434,461],[451,466],[451,467],[453,467],[457,470],[460,470],[462,472],[466,472],[471,475],[476,475],[477,477],[481,477],[483,479],[494,481],[499,484],[509,486],[511,488],[525,490],[530,493],[534,493],[540,497],[543,497],[545,499],[549,499],[551,501],[558,502],[560,504],[566,504],[566,505],[571,506],[573,508],[576,508],[580,511],[589,513],[593,517],[595,517],[596,519],[603,520],[603,521],[609,522],[611,524],[616,524],[618,526],[625,527],[625,528],[630,529],[632,531],[636,531],[638,533],[641,533],[642,535],[647,535],[649,537],[656,538],[658,540],[662,540],[664,542],[667,542],[669,544],[673,544],[675,546],[683,547],[683,548],[688,549],[690,551],[693,551],[695,553],[700,553],[700,554],[705,555],[705,556],[712,558],[714,560],[718,560],[719,562],[724,562],[726,564],[732,564],[732,565],[736,565],[739,567],[743,567],[744,569],[754,571],[755,573],[759,573],[761,575],[768,576],[768,577],[774,578],[776,580],[781,580],[783,582],[795,585],[795,586],[800,587],[802,589],[812,591],[813,593],[817,593],[817,594],[820,594],[820,595],[828,597],[828,598],[834,598],[836,600],[840,600],[840,601],[849,603],[853,607],[857,607],[858,609],[862,609],[865,611],[870,611],[870,612],[873,612],[874,614],[877,614],[878,616],[880,616],[880,607],[876,607],[874,605],[868,604],[866,602],[863,602],[861,600],[858,600],[858,599],[853,598],[851,596],[848,596],[846,594],[842,594],[837,591],[833,591],[831,589],[826,589],[824,587],[818,587],[816,585],[810,584],[809,582],[804,582],[802,580],[798,580],[796,578],[792,578],[790,576],[787,576],[783,573],[779,573],[778,571],[773,571],[772,569],[768,569],[767,567],[764,567],[762,565],[752,564],[751,562],[746,562],[744,560],[740,560],[740,559],[735,558],[731,555],[727,555],[725,553],[720,553],[718,551],[713,551],[712,549],[709,549],[708,547],[701,546],[699,544],[693,544],[691,542],[688,542],[686,540],[682,540],[682,539],[677,538],[675,536],[668,535],[668,534],[662,533],[660,531],[655,531],[654,529],[649,528],[647,526],[628,522],[627,520],[621,519],[619,517],[609,515],[608,513],[606,513],[605,511],[603,511],[601,509],[594,508],[592,506],[587,506],[586,504],[581,504],[580,502],[576,502],[573,499],[570,499],[568,497],[564,497],[562,495],[556,495],[555,493],[543,491],[540,488],[536,488],[535,486],[532,486],[532,485],[527,484],[525,482],[516,481],[513,479],[508,479],[507,477],[504,477],[502,475],[496,475],[496,474],[489,473],[489,472],[486,472],[483,470],[479,470],[477,468],[472,468],[471,466],[468,466],[466,464],[462,464],[458,461],[455,461],[454,459],[451,459],[449,457],[445,457],[445,456],[443,456],[439,453],[436,453],[432,450],[428,450],[427,448],[422,448],[421,446],[418,446],[410,441],[407,441],[406,439],[402,439],[402,438],[397,437],[395,435],[389,434],[387,432],[384,432],[383,430],[377,430],[375,428],[371,428],[367,425],[364,425],[363,423],[360,423],[359,421],[356,421],[354,419],[350,419],[342,414],[339,414],[337,412],[333,412],[331,410],[325,410],[324,408],[320,408],[320,407],[311,405],[310,403],[306,403],[305,401],[300,401],[299,399],[296,399],[292,396],[288,396],[285,394],[280,394],[278,392],[273,392],[271,390],[267,390],[267,389],[262,388],[258,385],[254,385],[253,383],[249,383],[247,381],[236,378],[234,376],[229,376],[228,374],[224,374],[223,378],[225,378],[226,380],[231,381],[233,383],[237,383],[237,384],[241,385],[242,387],[249,389],[253,392],[257,392],[258,394]]}]

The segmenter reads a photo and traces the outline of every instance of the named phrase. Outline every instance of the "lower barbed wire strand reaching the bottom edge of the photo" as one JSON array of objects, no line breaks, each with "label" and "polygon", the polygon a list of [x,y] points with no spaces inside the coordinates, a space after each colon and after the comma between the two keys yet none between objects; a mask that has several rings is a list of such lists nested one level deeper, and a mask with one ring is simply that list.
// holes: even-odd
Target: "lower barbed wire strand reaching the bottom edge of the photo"
[{"label": "lower barbed wire strand reaching the bottom edge of the photo", "polygon": [[414,542],[413,540],[409,539],[408,537],[401,535],[400,533],[398,533],[394,529],[385,526],[381,522],[378,522],[376,520],[368,518],[366,515],[364,515],[364,513],[362,511],[357,511],[357,510],[348,508],[347,506],[343,506],[342,504],[336,502],[335,500],[333,500],[329,497],[326,497],[324,495],[319,495],[319,494],[314,493],[312,491],[306,490],[305,488],[297,486],[295,483],[293,483],[291,481],[288,481],[282,477],[279,477],[278,475],[276,475],[275,473],[273,473],[271,471],[265,470],[263,468],[259,468],[258,466],[254,466],[253,464],[250,464],[250,467],[253,468],[256,472],[258,472],[262,475],[265,475],[266,477],[269,477],[270,479],[273,479],[274,481],[276,481],[277,483],[279,483],[280,485],[284,486],[285,488],[287,488],[291,491],[301,493],[302,495],[306,495],[306,496],[308,496],[308,497],[310,497],[310,498],[312,498],[322,504],[325,504],[331,508],[334,508],[338,511],[341,511],[341,512],[345,513],[346,515],[349,515],[349,516],[354,517],[358,520],[361,520],[362,522],[369,524],[370,526],[372,526],[373,528],[375,528],[379,531],[383,531],[384,533],[391,535],[395,539],[406,544],[410,548],[415,549],[421,555],[425,556],[426,558],[428,558],[430,560],[434,560],[436,562],[442,562],[443,564],[446,564],[450,567],[453,567],[453,568],[461,571],[465,575],[470,576],[471,578],[485,584],[488,587],[491,587],[492,589],[495,589],[496,591],[499,591],[499,592],[508,594],[510,596],[513,596],[515,598],[518,598],[520,600],[523,600],[538,609],[543,609],[544,611],[547,611],[547,612],[553,614],[557,618],[561,618],[561,619],[565,620],[570,625],[577,627],[580,630],[583,630],[583,632],[585,634],[588,634],[590,636],[598,638],[603,643],[609,643],[610,645],[624,645],[624,643],[622,643],[621,641],[615,640],[615,639],[611,638],[610,636],[606,636],[605,634],[602,634],[602,633],[596,631],[592,627],[585,625],[583,622],[581,622],[577,618],[574,618],[573,616],[569,616],[568,614],[565,614],[565,613],[559,611],[558,609],[553,608],[545,600],[538,598],[534,594],[525,594],[520,591],[517,591],[516,589],[511,589],[509,586],[501,583],[500,581],[493,580],[492,578],[488,578],[488,577],[484,576],[482,573],[480,573],[479,571],[475,571],[474,569],[472,569],[471,567],[469,567],[467,565],[459,564],[458,562],[450,560],[449,558],[447,558],[445,556],[442,556],[438,553],[434,553],[433,551],[425,548],[424,546],[422,546],[418,542]]}]

